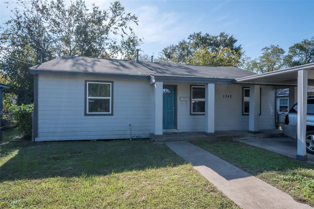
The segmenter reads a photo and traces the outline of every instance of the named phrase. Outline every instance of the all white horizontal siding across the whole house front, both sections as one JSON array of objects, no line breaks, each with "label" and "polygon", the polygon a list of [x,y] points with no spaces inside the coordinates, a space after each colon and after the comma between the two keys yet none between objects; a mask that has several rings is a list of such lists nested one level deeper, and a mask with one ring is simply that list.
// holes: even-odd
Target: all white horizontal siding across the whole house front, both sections
[{"label": "all white horizontal siding across the whole house front, both sections", "polygon": [[[113,81],[113,115],[84,115],[84,80]],[[204,131],[204,116],[190,115],[190,85],[177,85],[178,131]],[[154,131],[154,87],[148,80],[39,75],[38,137],[36,141],[119,139],[132,135],[149,137]],[[274,127],[274,91],[262,87],[259,128]],[[222,95],[232,95],[223,98]],[[180,101],[188,97],[189,101]],[[215,130],[248,129],[249,117],[242,115],[242,85],[215,85]]]}]

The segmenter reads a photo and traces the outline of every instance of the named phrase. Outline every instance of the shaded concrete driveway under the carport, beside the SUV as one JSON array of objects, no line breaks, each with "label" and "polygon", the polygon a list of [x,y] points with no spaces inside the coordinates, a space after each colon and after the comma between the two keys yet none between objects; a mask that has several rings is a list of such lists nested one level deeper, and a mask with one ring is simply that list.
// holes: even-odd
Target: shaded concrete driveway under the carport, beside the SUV
[{"label": "shaded concrete driveway under the carport, beside the SUV", "polygon": [[[260,147],[280,153],[292,158],[296,158],[297,153],[297,141],[288,138],[259,138],[259,139],[238,139],[239,142],[244,142],[255,147]],[[307,162],[314,164],[314,155],[307,153]]]}]

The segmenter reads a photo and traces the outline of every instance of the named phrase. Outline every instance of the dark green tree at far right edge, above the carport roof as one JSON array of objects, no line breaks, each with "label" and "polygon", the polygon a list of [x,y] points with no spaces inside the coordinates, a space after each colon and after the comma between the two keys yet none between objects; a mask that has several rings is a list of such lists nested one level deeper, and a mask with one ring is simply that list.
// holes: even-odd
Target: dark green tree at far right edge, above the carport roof
[{"label": "dark green tree at far right edge, above the carport roof", "polygon": [[287,67],[295,67],[314,62],[314,36],[311,40],[304,39],[289,47],[288,55],[284,58]]}]

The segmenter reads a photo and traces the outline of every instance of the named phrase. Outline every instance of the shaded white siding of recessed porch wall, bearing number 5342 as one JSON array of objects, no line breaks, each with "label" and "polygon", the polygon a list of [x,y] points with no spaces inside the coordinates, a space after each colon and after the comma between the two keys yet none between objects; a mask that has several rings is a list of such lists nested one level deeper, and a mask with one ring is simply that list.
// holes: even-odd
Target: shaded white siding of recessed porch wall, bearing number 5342
[{"label": "shaded white siding of recessed porch wall, bearing number 5342", "polygon": [[[190,115],[190,85],[193,83],[164,83],[177,85],[177,128],[178,131],[204,131],[203,115]],[[249,116],[242,115],[242,87],[240,84],[215,84],[215,130],[247,130]],[[262,88],[262,115],[259,116],[260,129],[274,128],[274,91],[272,87]],[[223,98],[232,95],[232,98]],[[180,101],[188,97],[189,101]]]}]

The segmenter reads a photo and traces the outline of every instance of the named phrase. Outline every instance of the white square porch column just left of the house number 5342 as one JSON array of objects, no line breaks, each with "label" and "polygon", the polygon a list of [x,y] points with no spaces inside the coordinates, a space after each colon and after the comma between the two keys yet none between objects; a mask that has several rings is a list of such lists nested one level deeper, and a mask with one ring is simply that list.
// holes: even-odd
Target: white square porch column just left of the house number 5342
[{"label": "white square porch column just left of the house number 5342", "polygon": [[215,132],[215,84],[207,83],[205,87],[205,133],[213,136]]}]

